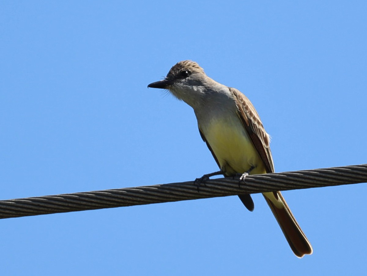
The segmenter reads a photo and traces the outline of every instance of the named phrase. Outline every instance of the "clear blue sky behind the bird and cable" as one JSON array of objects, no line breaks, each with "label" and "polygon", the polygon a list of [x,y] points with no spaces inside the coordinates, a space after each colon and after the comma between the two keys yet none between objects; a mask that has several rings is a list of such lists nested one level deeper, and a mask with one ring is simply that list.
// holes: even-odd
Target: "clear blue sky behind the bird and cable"
[{"label": "clear blue sky behind the bird and cable", "polygon": [[[366,1],[1,1],[0,199],[193,180],[192,109],[148,89],[180,60],[236,87],[276,171],[367,163]],[[366,275],[366,184],[0,221],[2,275]],[[269,274],[268,274],[269,273]]]}]

